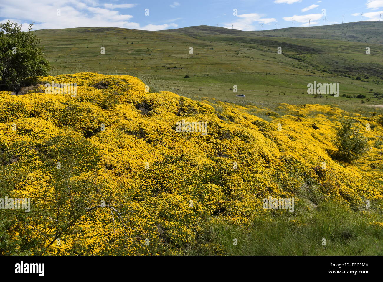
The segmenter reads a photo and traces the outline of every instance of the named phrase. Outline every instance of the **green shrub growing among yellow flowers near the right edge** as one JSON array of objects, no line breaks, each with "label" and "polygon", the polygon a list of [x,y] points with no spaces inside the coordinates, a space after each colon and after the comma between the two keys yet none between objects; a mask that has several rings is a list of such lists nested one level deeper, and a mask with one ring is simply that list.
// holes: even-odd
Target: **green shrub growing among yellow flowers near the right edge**
[{"label": "green shrub growing among yellow flowers near the right edge", "polygon": [[340,125],[335,134],[335,147],[338,149],[336,158],[351,162],[358,159],[370,148],[368,141],[358,128],[352,124],[352,118],[340,120]]}]

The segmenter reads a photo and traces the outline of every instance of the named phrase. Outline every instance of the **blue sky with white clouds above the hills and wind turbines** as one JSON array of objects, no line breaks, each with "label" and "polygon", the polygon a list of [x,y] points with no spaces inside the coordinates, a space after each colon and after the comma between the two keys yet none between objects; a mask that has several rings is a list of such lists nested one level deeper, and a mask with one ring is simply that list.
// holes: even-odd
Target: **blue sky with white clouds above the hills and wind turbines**
[{"label": "blue sky with white clouds above the hills and wind turbines", "polygon": [[[59,9],[59,13],[58,10]],[[147,12],[145,12],[145,9]],[[236,9],[236,10],[234,10]],[[324,9],[324,10],[323,10]],[[0,21],[22,23],[23,29],[115,26],[164,30],[210,25],[238,30],[326,25],[379,20],[383,0],[10,0],[0,3]],[[149,15],[145,15],[149,14]],[[59,15],[58,15],[59,14]],[[383,15],[382,15],[383,16]],[[382,18],[383,20],[383,18]]]}]

